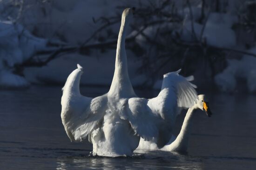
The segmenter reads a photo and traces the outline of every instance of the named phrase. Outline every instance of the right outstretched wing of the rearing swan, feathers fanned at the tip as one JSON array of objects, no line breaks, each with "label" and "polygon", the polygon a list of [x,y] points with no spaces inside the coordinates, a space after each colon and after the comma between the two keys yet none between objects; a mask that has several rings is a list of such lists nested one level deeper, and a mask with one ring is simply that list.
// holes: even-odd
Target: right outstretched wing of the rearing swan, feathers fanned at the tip
[{"label": "right outstretched wing of the rearing swan, feathers fanned at the tip", "polygon": [[164,75],[157,97],[130,98],[129,111],[123,116],[144,140],[155,141],[159,147],[168,143],[180,108],[193,106],[197,99],[196,86],[189,82],[193,76],[184,78],[179,72]]}]

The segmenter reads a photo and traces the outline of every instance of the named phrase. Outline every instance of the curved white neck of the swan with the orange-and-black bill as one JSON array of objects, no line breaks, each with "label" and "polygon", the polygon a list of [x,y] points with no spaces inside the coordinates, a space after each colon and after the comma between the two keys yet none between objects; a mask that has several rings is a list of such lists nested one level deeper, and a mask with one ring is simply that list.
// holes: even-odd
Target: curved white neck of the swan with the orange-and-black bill
[{"label": "curved white neck of the swan with the orange-and-black bill", "polygon": [[195,110],[194,106],[188,109],[179,135],[176,137],[174,142],[172,142],[169,145],[166,145],[164,147],[164,150],[180,151],[180,152],[187,151],[188,143],[189,143],[191,118],[194,110]]}]

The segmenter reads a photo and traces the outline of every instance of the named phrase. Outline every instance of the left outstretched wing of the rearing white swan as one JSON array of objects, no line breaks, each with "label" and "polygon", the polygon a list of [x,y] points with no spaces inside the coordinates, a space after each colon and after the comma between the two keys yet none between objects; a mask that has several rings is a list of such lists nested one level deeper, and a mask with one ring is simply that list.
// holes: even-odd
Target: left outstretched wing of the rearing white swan
[{"label": "left outstretched wing of the rearing white swan", "polygon": [[105,96],[88,98],[81,95],[79,84],[83,68],[77,67],[68,76],[61,97],[61,120],[71,141],[84,140],[101,124],[104,116],[101,110],[106,101]]}]

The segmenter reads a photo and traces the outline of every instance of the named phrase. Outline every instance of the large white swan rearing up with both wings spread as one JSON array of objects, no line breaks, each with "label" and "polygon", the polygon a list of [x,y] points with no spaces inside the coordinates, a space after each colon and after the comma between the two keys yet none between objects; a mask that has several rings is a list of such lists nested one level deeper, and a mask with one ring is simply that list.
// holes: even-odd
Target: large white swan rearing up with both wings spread
[{"label": "large white swan rearing up with both wings spread", "polygon": [[96,98],[80,94],[79,83],[83,68],[78,65],[67,78],[61,97],[61,119],[71,141],[88,140],[94,155],[131,156],[140,137],[168,143],[171,124],[177,107],[191,107],[196,101],[195,85],[177,72],[164,75],[162,90],[156,98],[137,98],[128,77],[125,33],[132,10],[122,13],[117,41],[115,73],[110,90]]}]

